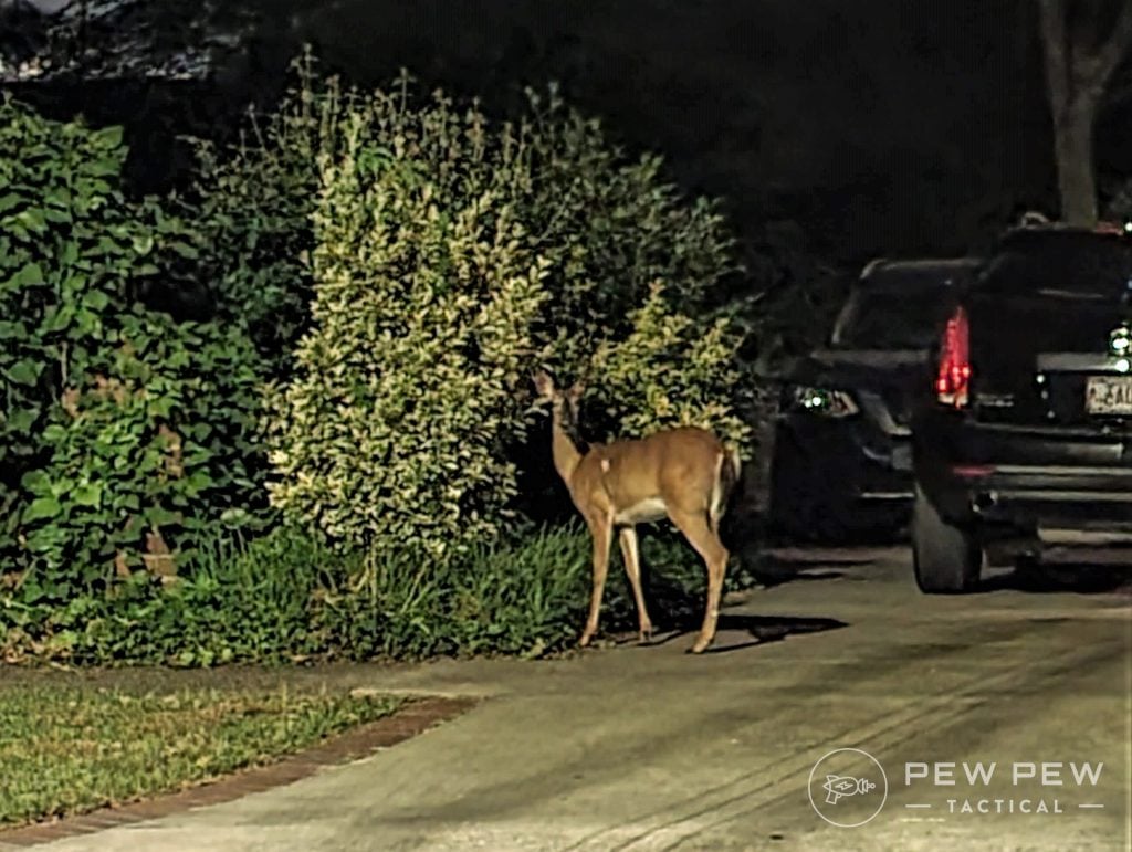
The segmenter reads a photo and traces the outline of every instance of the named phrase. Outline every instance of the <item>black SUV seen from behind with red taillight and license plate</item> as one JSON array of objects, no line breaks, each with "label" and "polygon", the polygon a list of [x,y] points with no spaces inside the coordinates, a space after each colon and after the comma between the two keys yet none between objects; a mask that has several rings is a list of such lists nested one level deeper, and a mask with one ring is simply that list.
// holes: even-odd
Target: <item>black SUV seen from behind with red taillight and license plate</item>
[{"label": "black SUV seen from behind with red taillight and license plate", "polygon": [[1001,239],[940,329],[912,418],[921,591],[974,588],[987,553],[1132,542],[1130,319],[1132,239]]}]

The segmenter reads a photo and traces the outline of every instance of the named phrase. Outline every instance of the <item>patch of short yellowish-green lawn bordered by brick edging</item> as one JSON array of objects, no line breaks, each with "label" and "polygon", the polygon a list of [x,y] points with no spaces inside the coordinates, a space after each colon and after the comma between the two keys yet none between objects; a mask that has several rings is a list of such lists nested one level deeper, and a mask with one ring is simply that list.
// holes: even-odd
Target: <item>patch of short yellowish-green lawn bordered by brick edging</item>
[{"label": "patch of short yellowish-green lawn bordered by brick edging", "polygon": [[125,803],[269,763],[393,713],[342,690],[0,688],[0,826]]}]

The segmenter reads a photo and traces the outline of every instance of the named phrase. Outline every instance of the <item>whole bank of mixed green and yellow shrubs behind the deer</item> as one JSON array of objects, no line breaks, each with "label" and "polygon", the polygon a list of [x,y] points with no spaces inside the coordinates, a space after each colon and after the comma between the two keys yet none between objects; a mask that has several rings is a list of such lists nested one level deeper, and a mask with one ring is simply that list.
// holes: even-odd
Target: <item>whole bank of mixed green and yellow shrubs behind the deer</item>
[{"label": "whole bank of mixed green and yellow shrubs behind the deer", "polygon": [[298,67],[183,197],[123,196],[120,130],[0,105],[7,659],[563,647],[590,545],[516,532],[531,371],[589,380],[590,437],[749,446],[714,203],[552,91],[506,122]]}]

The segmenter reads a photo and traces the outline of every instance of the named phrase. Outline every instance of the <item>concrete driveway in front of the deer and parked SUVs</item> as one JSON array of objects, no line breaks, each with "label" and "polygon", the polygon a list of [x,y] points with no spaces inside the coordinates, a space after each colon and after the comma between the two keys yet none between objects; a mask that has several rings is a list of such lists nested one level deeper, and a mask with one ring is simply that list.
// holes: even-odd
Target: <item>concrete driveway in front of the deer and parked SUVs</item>
[{"label": "concrete driveway in front of the deer and parked SUVs", "polygon": [[928,597],[904,549],[833,556],[728,609],[701,657],[685,635],[375,668],[378,690],[488,699],[289,786],[52,846],[1132,847],[1126,586]]}]

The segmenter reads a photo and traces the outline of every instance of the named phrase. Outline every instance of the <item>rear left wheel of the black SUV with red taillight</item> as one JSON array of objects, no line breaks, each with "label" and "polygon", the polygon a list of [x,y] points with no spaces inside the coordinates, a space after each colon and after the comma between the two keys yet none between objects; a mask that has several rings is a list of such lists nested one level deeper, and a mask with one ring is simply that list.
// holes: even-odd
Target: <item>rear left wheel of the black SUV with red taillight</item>
[{"label": "rear left wheel of the black SUV with red taillight", "polygon": [[983,548],[971,530],[945,522],[916,487],[912,509],[912,567],[927,594],[970,592],[979,580]]}]

